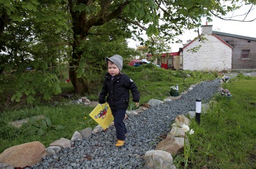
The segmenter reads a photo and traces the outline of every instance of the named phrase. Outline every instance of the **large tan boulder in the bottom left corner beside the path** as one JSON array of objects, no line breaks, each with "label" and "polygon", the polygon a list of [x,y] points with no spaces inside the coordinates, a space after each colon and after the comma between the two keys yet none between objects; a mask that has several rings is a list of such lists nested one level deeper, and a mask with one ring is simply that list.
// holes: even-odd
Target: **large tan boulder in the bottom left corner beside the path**
[{"label": "large tan boulder in the bottom left corner beside the path", "polygon": [[23,168],[41,162],[46,155],[45,146],[39,141],[34,141],[7,148],[0,154],[0,162],[8,163],[14,168]]}]

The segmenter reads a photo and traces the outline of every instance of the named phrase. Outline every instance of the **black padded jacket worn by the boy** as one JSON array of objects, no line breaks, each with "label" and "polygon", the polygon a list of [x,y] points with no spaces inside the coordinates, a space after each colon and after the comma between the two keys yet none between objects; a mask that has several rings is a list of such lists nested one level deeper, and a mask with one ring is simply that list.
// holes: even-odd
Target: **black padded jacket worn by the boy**
[{"label": "black padded jacket worn by the boy", "polygon": [[128,75],[118,74],[111,80],[111,75],[107,73],[99,95],[99,103],[104,104],[107,101],[113,110],[127,109],[130,98],[129,90],[131,90],[132,101],[139,103],[140,93]]}]

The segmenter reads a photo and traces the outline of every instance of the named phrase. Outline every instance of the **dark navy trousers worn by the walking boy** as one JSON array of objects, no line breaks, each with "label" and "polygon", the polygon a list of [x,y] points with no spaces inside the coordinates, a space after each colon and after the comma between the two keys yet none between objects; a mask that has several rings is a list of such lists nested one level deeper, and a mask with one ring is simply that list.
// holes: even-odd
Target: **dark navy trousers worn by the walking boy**
[{"label": "dark navy trousers worn by the walking boy", "polygon": [[125,140],[125,134],[127,133],[126,126],[124,123],[126,109],[112,110],[114,116],[114,124],[116,128],[116,139]]}]

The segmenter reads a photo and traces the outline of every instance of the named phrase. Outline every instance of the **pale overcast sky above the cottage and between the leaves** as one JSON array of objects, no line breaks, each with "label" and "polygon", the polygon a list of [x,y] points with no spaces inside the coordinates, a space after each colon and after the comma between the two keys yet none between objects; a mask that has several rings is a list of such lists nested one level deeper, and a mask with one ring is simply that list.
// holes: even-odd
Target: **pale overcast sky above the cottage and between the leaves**
[{"label": "pale overcast sky above the cottage and between the leaves", "polygon": [[[233,14],[233,16],[238,16],[244,14],[248,11],[248,7],[244,7]],[[231,13],[230,13],[231,14]],[[242,20],[244,17],[237,17],[234,19]],[[253,9],[247,16],[247,20],[256,18],[256,9]],[[203,25],[205,25],[206,19],[202,19]],[[208,22],[208,25],[213,25],[213,30],[224,33],[238,34],[247,37],[256,38],[256,21],[254,22],[238,22],[238,21],[224,21],[219,18],[213,18],[213,22]],[[201,30],[201,28],[199,29]],[[201,33],[201,32],[200,32]],[[183,43],[186,43],[186,40],[194,39],[197,37],[197,33],[194,30],[186,30],[183,35],[180,35],[178,38],[183,40]],[[146,35],[144,36],[146,38]],[[127,40],[129,47],[136,48],[140,45],[140,42],[135,42],[134,40]],[[182,47],[182,44],[170,44],[171,52],[178,52],[179,48]]]}]

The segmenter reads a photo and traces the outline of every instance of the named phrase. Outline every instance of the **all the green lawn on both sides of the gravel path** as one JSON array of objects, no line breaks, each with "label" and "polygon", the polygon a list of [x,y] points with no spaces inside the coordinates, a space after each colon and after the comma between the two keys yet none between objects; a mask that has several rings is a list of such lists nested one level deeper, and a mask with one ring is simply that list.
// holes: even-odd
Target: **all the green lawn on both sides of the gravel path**
[{"label": "all the green lawn on both sides of the gravel path", "polygon": [[[140,104],[147,103],[151,98],[163,100],[169,96],[170,86],[178,84],[179,91],[182,92],[192,84],[214,79],[217,75],[221,77],[221,74],[216,72],[171,71],[151,66],[124,66],[123,72],[135,81],[140,90]],[[232,99],[215,95],[215,102],[208,113],[201,115],[200,126],[195,122],[191,123],[190,128],[195,130],[195,134],[190,138],[193,153],[189,157],[188,168],[256,168],[255,84],[256,78],[243,75],[224,83],[223,88],[229,89]],[[61,88],[64,93],[72,91],[72,85],[66,84],[65,80],[61,81]],[[97,101],[100,88],[101,84],[97,85],[96,90],[83,96]],[[8,90],[4,91],[1,97],[10,97],[14,90],[14,85],[8,85]],[[79,97],[75,95],[71,99],[64,99],[57,95],[51,101],[37,101],[33,105],[22,101],[2,101],[1,104],[5,107],[1,110],[0,152],[10,146],[30,141],[40,141],[48,147],[51,142],[61,137],[71,139],[76,130],[95,127],[96,122],[90,121],[91,118],[88,116],[93,107],[70,103]],[[129,109],[132,109],[132,106]],[[8,124],[10,121],[37,115],[45,115],[51,123],[44,126],[42,121],[37,121],[38,125],[31,121],[21,129]],[[43,133],[38,132],[38,129],[30,132],[30,129],[42,126]],[[174,157],[174,164],[178,168],[184,168],[182,161],[183,153]]]}]

